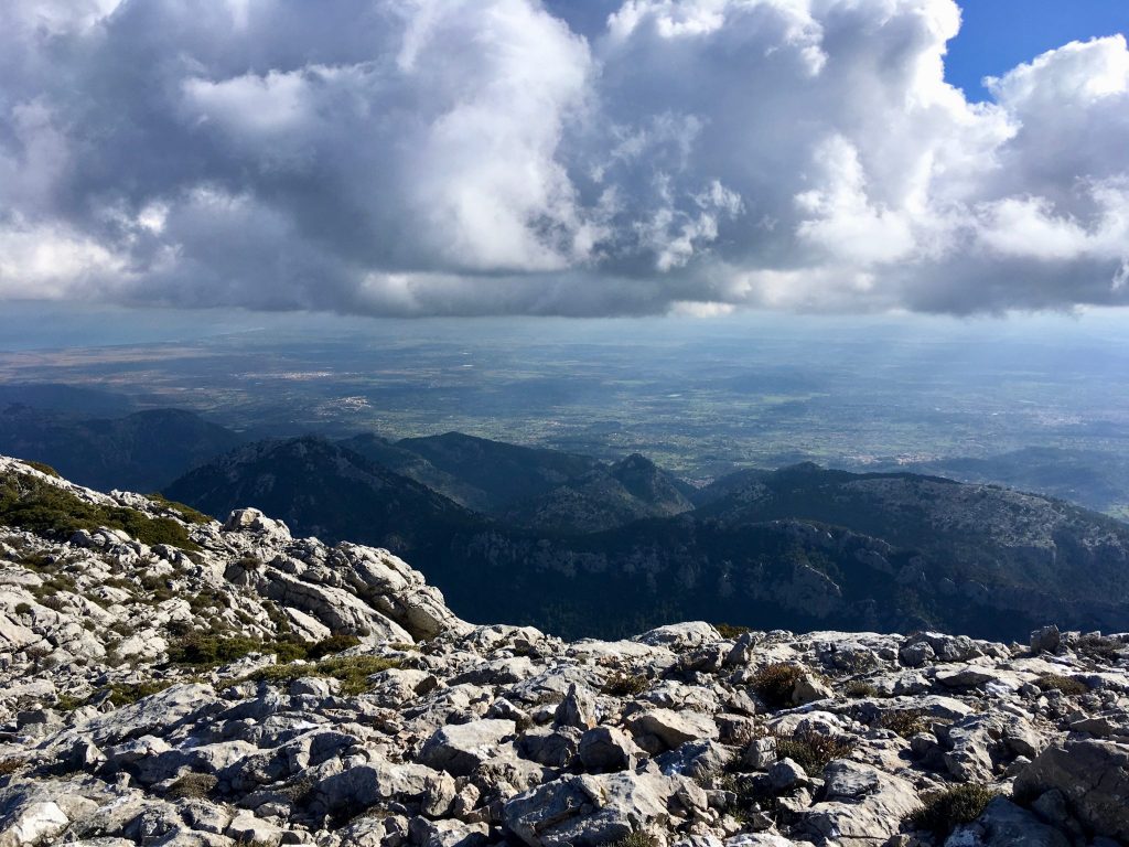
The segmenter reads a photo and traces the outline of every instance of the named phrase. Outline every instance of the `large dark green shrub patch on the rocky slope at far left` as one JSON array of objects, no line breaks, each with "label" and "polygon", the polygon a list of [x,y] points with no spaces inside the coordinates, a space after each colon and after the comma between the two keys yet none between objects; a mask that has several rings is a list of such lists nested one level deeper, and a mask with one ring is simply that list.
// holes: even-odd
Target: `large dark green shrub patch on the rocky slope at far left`
[{"label": "large dark green shrub patch on the rocky slope at far left", "polygon": [[86,503],[70,491],[23,473],[0,479],[0,524],[56,535],[110,526],[146,544],[200,549],[184,526],[172,518],[149,517],[124,506]]}]

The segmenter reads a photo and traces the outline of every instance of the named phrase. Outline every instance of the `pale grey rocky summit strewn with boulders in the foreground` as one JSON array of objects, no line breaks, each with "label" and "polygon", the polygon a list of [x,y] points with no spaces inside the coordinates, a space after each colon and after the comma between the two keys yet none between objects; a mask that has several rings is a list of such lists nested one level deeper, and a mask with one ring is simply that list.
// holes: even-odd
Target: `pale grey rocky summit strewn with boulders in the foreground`
[{"label": "pale grey rocky summit strewn with boulders in the foreground", "polygon": [[567,643],[6,457],[0,583],[0,847],[1129,842],[1126,635]]}]

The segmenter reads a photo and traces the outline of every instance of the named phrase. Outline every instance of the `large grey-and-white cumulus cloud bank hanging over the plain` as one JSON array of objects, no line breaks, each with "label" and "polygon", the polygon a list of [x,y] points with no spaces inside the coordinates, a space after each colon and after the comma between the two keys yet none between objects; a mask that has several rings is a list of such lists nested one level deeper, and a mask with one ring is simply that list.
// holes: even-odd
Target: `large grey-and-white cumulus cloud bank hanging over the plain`
[{"label": "large grey-and-white cumulus cloud bank hanging over the plain", "polygon": [[1129,303],[1129,47],[952,0],[0,0],[0,297],[357,314]]}]

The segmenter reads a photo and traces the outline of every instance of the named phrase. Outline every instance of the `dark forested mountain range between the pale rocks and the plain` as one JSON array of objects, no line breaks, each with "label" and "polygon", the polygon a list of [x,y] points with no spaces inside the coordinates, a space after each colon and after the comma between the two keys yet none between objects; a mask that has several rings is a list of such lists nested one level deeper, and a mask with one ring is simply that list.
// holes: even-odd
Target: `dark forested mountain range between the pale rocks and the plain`
[{"label": "dark forested mountain range between the pale rocks and the plain", "polygon": [[387,547],[469,619],[567,636],[693,618],[994,638],[1047,620],[1129,629],[1129,525],[937,475],[800,464],[695,489],[638,454],[607,463],[457,433],[246,444],[189,412],[19,404],[0,412],[0,453]]}]

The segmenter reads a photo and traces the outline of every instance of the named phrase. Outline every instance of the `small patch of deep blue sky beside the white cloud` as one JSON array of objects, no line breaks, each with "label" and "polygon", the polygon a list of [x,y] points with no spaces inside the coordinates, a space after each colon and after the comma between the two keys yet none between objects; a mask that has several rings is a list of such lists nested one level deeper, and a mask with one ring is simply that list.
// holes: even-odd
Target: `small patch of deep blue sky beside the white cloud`
[{"label": "small patch of deep blue sky beside the white cloud", "polygon": [[988,99],[980,85],[1019,62],[1070,41],[1124,34],[1129,0],[964,0],[961,34],[949,42],[948,81],[969,99]]}]

